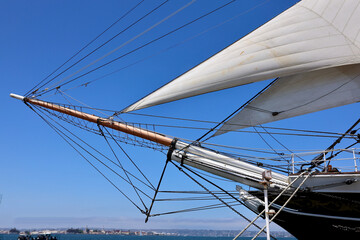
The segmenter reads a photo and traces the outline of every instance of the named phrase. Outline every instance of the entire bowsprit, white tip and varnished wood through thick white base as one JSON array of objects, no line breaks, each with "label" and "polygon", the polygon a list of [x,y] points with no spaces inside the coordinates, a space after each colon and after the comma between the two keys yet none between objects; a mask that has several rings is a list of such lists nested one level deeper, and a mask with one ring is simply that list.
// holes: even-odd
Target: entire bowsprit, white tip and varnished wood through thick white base
[{"label": "entire bowsprit, white tip and varnished wood through thick white base", "polygon": [[[259,182],[262,180],[262,173],[266,170],[264,168],[214,152],[210,149],[193,146],[186,142],[178,141],[176,138],[167,137],[163,134],[146,129],[137,128],[107,118],[101,118],[96,115],[62,107],[50,102],[25,98],[16,94],[10,94],[10,96],[27,104],[33,104],[60,113],[68,114],[73,117],[97,123],[104,127],[167,146],[169,147],[168,160],[174,160],[180,164],[189,165],[248,186],[263,189],[263,186]],[[273,183],[274,186],[277,185],[278,187],[287,186],[288,177],[280,173],[273,173]]]}]

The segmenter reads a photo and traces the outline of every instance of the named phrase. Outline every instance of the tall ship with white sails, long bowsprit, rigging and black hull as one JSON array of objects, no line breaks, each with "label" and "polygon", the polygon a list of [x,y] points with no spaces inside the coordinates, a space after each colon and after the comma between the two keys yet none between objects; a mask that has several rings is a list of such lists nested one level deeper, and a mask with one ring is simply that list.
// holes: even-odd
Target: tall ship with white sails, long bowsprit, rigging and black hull
[{"label": "tall ship with white sails, long bowsprit, rigging and black hull", "polygon": [[[135,11],[142,2],[134,4],[127,13]],[[114,181],[88,161],[144,214],[145,221],[162,215],[154,213],[154,207],[161,201],[214,200],[216,204],[189,207],[181,211],[174,209],[164,214],[227,207],[248,220],[247,227],[253,225],[259,230],[259,234],[266,232],[270,238],[269,227],[259,226],[256,221],[245,216],[237,208],[242,206],[249,209],[256,219],[265,218],[266,226],[274,222],[297,239],[358,239],[360,237],[360,166],[358,166],[360,152],[356,147],[360,142],[358,132],[360,119],[346,127],[342,133],[268,127],[267,124],[305,114],[311,117],[311,113],[348,104],[356,105],[360,101],[360,0],[299,1],[261,27],[162,87],[152,89],[150,94],[122,110],[124,106],[121,105],[115,111],[90,107],[67,94],[66,90],[77,87],[77,85],[71,87],[69,84],[78,84],[95,70],[161,40],[193,24],[197,19],[206,18],[213,12],[221,11],[222,8],[231,7],[234,1],[224,3],[211,12],[204,13],[197,19],[174,28],[124,55],[102,62],[128,43],[181,11],[191,8],[194,2],[189,1],[186,4],[184,2],[185,5],[145,31],[89,64],[79,66],[78,70],[71,74],[69,72],[70,75],[60,81],[55,83],[60,75],[63,77],[65,72],[72,70],[73,66],[103,45],[92,52],[89,50],[90,53],[83,58],[79,57],[80,60],[74,60],[78,57],[74,55],[74,58],[69,59],[74,62],[73,64],[65,63],[70,67],[60,66],[25,95],[11,94],[11,97],[23,101],[81,157],[87,161],[92,158],[100,162],[100,165],[105,165],[108,170],[130,185],[132,194],[140,199],[141,204],[137,204],[121,186],[116,186]],[[107,43],[105,42],[104,45]],[[193,98],[190,97],[226,91],[225,89],[242,85],[244,86],[241,88],[247,88],[261,81],[267,82],[250,99],[242,99],[238,96],[237,99],[231,100],[233,110],[231,113],[226,113],[227,116],[222,121],[207,121],[207,116],[204,116],[206,120],[196,121],[181,117],[151,115],[151,109],[157,108],[158,105],[166,106],[179,100],[181,101],[178,104],[182,101],[191,102]],[[84,87],[90,83],[85,80],[79,86]],[[141,83],[136,84],[141,85]],[[69,88],[66,89],[65,85]],[[58,98],[63,97],[65,102],[45,101],[45,97],[52,94]],[[116,99],[116,96],[110,97]],[[189,99],[182,100],[187,98]],[[216,101],[221,102],[221,100]],[[142,109],[147,108],[149,109],[145,113],[142,112]],[[209,112],[209,116],[212,114]],[[171,136],[163,131],[158,132],[159,126],[156,124],[139,122],[141,120],[125,121],[127,116],[131,116],[132,119],[153,117],[155,122],[156,119],[161,118],[159,125],[176,120],[206,124],[210,127],[197,127],[202,134],[194,139],[185,139],[184,136]],[[108,147],[107,154],[94,149],[86,143],[86,139],[78,137],[75,132],[64,127],[65,125],[79,128],[79,131],[88,134],[95,134]],[[169,124],[166,127],[171,126]],[[184,126],[184,129],[187,127]],[[216,142],[216,139],[225,139],[227,135],[247,131],[252,131],[261,138],[266,135],[277,144],[281,144],[283,149],[277,150],[269,146],[269,150],[265,151],[260,148],[229,146],[229,141],[226,140],[222,140],[224,144]],[[277,140],[274,131],[287,136],[302,135],[302,139],[314,141],[314,145],[324,136],[330,136],[332,140],[328,141],[327,146],[322,150],[299,152],[288,149],[287,144]],[[234,138],[231,138],[230,142],[232,141]],[[244,143],[246,139],[239,137],[237,142]],[[141,170],[142,162],[135,163],[130,156],[131,153],[125,152],[123,146],[127,144],[135,148],[164,153],[163,169],[158,175],[156,184],[148,181],[148,175]],[[244,153],[246,151],[252,153]],[[120,152],[124,153],[125,157],[120,158]],[[255,153],[259,155],[255,156]],[[124,159],[130,161],[131,166],[126,166]],[[113,167],[106,165],[105,160],[108,160],[110,165],[113,164]],[[170,167],[192,180],[202,190],[164,191],[164,178]],[[115,168],[117,170],[114,170]],[[219,184],[214,179],[228,181],[226,186],[230,184],[232,189],[225,190],[221,182]],[[149,187],[150,193],[143,190],[142,185]],[[168,193],[192,195],[171,199],[160,197]],[[143,201],[144,198],[146,200]],[[237,237],[242,233],[243,231]]]}]

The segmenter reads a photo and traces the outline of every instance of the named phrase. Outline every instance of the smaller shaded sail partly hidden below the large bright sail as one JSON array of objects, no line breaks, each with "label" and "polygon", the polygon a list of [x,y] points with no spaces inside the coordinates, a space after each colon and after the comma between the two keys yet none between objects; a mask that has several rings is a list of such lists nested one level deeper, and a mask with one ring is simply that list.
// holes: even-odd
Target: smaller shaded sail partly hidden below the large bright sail
[{"label": "smaller shaded sail partly hidden below the large bright sail", "polygon": [[279,78],[215,135],[360,101],[360,64]]}]

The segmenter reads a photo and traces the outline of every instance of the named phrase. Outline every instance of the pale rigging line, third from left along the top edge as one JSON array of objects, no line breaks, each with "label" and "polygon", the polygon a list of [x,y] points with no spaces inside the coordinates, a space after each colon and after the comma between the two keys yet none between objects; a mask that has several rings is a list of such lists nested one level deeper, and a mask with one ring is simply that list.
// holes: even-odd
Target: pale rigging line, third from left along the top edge
[{"label": "pale rigging line, third from left along the top edge", "polygon": [[[136,35],[135,37],[131,38],[130,40],[126,41],[125,43],[121,44],[120,46],[118,46],[117,48],[111,50],[110,52],[106,53],[105,55],[103,55],[102,57],[96,59],[95,61],[91,62],[90,64],[86,65],[85,67],[82,67],[81,69],[79,69],[78,71],[76,71],[75,73],[61,79],[60,81],[58,81],[56,83],[56,85],[60,84],[61,82],[64,82],[65,80],[75,76],[76,74],[82,72],[83,70],[89,68],[90,66],[94,65],[95,63],[103,60],[104,58],[110,56],[111,54],[117,52],[118,50],[120,50],[121,48],[125,47],[126,45],[130,44],[131,42],[135,41],[136,39],[138,39],[139,37],[143,36],[144,34],[146,34],[147,32],[151,31],[152,29],[154,29],[155,27],[157,27],[158,25],[160,25],[161,23],[165,22],[166,20],[170,19],[171,17],[175,16],[177,13],[181,12],[182,10],[184,10],[185,8],[189,7],[191,4],[193,4],[196,0],[192,0],[191,2],[185,4],[184,6],[182,6],[181,8],[177,9],[175,12],[171,13],[170,15],[168,15],[167,17],[163,18],[162,20],[160,20],[159,22],[155,23],[154,25],[152,25],[151,27],[147,28],[145,31],[141,32],[140,34]],[[148,14],[146,14],[143,18],[145,18],[146,16],[148,16],[149,14],[151,14],[152,12],[154,12],[155,10],[159,9],[160,7],[162,7],[165,3],[169,2],[169,0],[164,1],[162,4],[160,4],[158,7],[156,7],[153,11],[149,12]],[[142,20],[143,18],[141,18],[140,20]],[[137,23],[137,22],[135,22]],[[131,27],[132,25],[130,25]],[[127,28],[128,29],[128,28]],[[126,30],[127,30],[126,29]],[[112,62],[112,61],[110,61]],[[106,64],[107,65],[107,64]],[[97,69],[97,68],[96,68]],[[91,71],[90,71],[91,72]],[[65,83],[66,84],[66,83]],[[53,84],[52,86],[50,86],[49,88],[54,87],[55,84]],[[61,85],[60,85],[61,86]]]}]

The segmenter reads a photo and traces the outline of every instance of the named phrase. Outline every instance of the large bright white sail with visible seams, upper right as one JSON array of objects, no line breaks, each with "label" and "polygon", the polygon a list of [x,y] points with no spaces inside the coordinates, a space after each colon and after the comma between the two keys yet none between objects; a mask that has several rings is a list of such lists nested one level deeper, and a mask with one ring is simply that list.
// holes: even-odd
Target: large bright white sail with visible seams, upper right
[{"label": "large bright white sail with visible seams, upper right", "polygon": [[303,0],[123,112],[265,79],[360,63],[359,3]]}]

